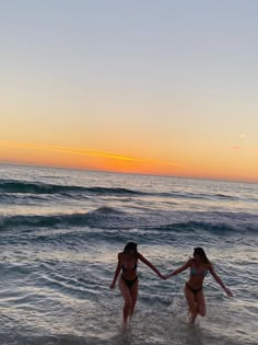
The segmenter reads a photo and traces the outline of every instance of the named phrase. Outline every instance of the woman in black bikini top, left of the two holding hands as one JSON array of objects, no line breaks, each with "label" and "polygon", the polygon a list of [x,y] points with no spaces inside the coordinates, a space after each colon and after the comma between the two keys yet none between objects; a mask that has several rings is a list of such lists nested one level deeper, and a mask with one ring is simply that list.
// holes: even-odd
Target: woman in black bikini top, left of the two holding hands
[{"label": "woman in black bikini top, left of the two holding hands", "polygon": [[115,271],[114,279],[110,285],[110,289],[116,286],[116,280],[119,276],[120,271],[122,271],[119,278],[119,288],[121,295],[125,299],[125,304],[122,309],[124,325],[127,325],[128,317],[131,318],[134,311],[137,296],[138,296],[138,275],[137,275],[137,264],[138,260],[143,262],[150,268],[152,268],[160,278],[165,279],[165,277],[160,273],[160,271],[152,265],[142,254],[137,251],[137,243],[128,242],[121,253],[118,253],[118,263]]}]

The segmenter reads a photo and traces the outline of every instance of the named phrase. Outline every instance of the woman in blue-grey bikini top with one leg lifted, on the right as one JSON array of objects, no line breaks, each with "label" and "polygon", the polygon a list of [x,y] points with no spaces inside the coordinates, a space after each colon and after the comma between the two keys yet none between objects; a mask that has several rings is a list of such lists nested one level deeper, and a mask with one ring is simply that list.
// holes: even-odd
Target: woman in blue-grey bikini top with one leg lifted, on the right
[{"label": "woman in blue-grey bikini top with one leg lifted, on the right", "polygon": [[201,317],[206,315],[206,300],[202,290],[202,284],[208,272],[211,273],[213,278],[225,290],[228,297],[232,297],[233,294],[218,276],[202,248],[195,248],[194,257],[188,260],[181,267],[165,276],[165,278],[167,279],[172,276],[175,276],[188,267],[190,267],[190,277],[185,285],[185,297],[191,313],[190,322],[194,323],[198,314]]}]

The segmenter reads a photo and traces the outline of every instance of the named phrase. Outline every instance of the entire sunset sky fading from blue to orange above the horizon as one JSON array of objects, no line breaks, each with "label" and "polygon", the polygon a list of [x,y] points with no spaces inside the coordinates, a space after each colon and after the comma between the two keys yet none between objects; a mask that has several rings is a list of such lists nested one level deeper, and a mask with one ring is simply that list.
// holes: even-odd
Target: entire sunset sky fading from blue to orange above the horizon
[{"label": "entire sunset sky fading from blue to orange above the horizon", "polygon": [[0,162],[258,182],[258,1],[0,0]]}]

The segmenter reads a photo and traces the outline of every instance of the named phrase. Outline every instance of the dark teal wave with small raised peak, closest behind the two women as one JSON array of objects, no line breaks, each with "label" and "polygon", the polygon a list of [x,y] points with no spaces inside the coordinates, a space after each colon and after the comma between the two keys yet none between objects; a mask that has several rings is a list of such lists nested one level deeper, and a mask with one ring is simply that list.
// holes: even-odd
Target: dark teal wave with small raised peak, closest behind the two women
[{"label": "dark teal wave with small raised peak, closest behind the two women", "polygon": [[[131,214],[113,207],[99,207],[87,212],[56,215],[2,216],[0,229],[19,228],[97,228],[103,230],[133,230],[163,232],[207,231],[216,233],[256,232],[258,217],[250,214],[188,212],[166,220],[150,214]],[[198,220],[197,220],[198,219]]]}]

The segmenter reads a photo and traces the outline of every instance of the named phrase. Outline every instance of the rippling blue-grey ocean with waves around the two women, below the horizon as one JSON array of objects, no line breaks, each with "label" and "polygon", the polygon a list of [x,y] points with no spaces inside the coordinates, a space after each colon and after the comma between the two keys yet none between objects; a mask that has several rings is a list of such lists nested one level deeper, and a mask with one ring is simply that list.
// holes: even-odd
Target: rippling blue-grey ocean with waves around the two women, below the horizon
[{"label": "rippling blue-grey ocean with waves around the two women, below the horizon", "polygon": [[[234,297],[208,275],[191,325],[189,272],[139,263],[122,330],[109,285],[128,241],[163,274],[202,246]],[[0,344],[258,344],[258,184],[2,164],[0,272]]]}]

